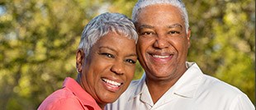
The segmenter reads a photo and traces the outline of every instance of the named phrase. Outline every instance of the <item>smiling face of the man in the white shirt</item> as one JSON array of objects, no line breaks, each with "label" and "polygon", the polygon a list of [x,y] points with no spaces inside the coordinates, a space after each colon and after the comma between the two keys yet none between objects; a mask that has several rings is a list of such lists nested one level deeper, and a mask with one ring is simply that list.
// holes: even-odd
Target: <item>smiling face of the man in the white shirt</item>
[{"label": "smiling face of the man in the white shirt", "polygon": [[181,12],[171,5],[142,8],[135,23],[137,53],[147,79],[178,79],[187,70],[190,30],[186,34]]}]

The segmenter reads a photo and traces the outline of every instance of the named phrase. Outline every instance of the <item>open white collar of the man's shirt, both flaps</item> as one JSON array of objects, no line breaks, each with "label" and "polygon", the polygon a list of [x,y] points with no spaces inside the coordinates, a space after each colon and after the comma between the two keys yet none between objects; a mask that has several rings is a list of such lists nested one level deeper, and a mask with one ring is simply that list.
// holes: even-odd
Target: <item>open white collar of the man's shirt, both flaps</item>
[{"label": "open white collar of the man's shirt, both flaps", "polygon": [[[186,62],[187,71],[183,76],[170,88],[167,93],[173,93],[183,98],[193,98],[198,85],[201,81],[203,73],[195,62]],[[141,95],[141,100],[145,103],[150,103],[151,96],[148,91],[148,87],[145,84],[145,73],[139,80],[138,86],[134,90],[134,94],[131,94],[130,99],[134,99]],[[129,100],[130,100],[129,99]],[[162,98],[161,98],[162,99]],[[167,98],[168,99],[168,98]],[[151,101],[152,102],[152,101]]]}]

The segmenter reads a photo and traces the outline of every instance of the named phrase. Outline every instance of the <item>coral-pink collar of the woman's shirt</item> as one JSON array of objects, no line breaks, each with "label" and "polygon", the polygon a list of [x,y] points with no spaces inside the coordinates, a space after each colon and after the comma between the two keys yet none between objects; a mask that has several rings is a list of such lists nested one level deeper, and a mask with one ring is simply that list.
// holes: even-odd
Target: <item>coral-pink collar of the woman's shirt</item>
[{"label": "coral-pink collar of the woman's shirt", "polygon": [[78,99],[83,103],[83,105],[92,107],[95,110],[101,110],[95,99],[93,99],[90,94],[88,94],[80,85],[78,85],[76,80],[67,77],[64,80],[63,88],[64,87],[70,89],[73,94],[76,95]]}]

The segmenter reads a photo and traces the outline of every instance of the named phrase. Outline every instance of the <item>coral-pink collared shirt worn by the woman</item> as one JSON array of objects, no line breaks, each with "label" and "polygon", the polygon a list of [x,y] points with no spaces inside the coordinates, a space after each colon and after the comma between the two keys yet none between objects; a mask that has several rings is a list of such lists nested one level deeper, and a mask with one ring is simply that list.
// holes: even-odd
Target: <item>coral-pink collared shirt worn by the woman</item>
[{"label": "coral-pink collared shirt worn by the woman", "polygon": [[67,77],[62,89],[50,94],[38,110],[101,110],[95,99],[76,80]]}]

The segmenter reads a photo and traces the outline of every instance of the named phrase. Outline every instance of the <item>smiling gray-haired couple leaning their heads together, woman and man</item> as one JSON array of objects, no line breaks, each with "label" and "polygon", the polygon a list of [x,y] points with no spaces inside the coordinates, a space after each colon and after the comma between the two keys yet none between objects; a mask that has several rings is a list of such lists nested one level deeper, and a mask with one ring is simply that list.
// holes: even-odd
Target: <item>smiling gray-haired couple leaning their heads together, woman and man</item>
[{"label": "smiling gray-haired couple leaning their heads together, woman and man", "polygon": [[[181,0],[139,0],[132,21],[118,13],[93,18],[76,53],[77,79],[66,78],[38,109],[255,109],[239,89],[186,62],[191,30]],[[145,74],[131,81],[137,58]]]}]

